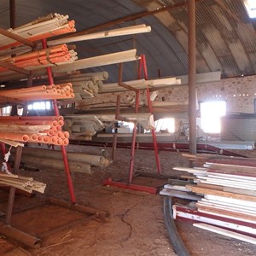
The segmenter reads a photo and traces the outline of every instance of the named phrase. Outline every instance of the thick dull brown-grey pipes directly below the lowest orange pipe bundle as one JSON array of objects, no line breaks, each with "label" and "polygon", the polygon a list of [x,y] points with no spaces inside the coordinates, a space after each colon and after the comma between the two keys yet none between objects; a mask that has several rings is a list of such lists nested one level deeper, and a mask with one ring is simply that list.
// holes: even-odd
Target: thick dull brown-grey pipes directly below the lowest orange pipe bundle
[{"label": "thick dull brown-grey pipes directly below the lowest orange pipe bundle", "polygon": [[[71,172],[90,173],[90,166],[107,167],[110,161],[103,155],[67,152]],[[12,148],[10,160],[15,160],[15,148]],[[22,149],[21,163],[39,168],[64,169],[61,151],[25,147]]]}]

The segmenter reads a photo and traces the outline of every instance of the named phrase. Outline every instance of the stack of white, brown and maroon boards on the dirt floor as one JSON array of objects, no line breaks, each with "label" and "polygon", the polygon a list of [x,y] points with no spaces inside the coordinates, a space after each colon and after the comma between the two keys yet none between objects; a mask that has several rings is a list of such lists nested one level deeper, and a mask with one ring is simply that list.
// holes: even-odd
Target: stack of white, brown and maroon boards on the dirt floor
[{"label": "stack of white, brown and maroon boards on the dirt floor", "polygon": [[250,237],[256,237],[256,160],[216,156],[207,159],[206,155],[193,159],[207,161],[203,167],[174,169],[193,175],[195,184],[187,184],[185,189],[202,198],[195,208],[174,205],[173,217],[204,223],[196,226],[256,244],[256,239]]}]

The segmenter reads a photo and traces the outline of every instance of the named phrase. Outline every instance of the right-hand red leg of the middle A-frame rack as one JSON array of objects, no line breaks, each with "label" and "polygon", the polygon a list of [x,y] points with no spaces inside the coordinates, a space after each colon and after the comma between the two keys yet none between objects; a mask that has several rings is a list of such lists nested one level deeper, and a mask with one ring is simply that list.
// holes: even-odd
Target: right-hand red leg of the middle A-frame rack
[{"label": "right-hand red leg of the middle A-frame rack", "polygon": [[[147,69],[147,62],[146,62],[145,55],[141,55],[141,60],[139,63],[138,79],[141,79],[141,77],[142,77],[142,70],[144,73],[144,78],[146,80],[148,80],[148,69]],[[147,91],[147,99],[148,99],[148,109],[149,109],[150,113],[153,113],[152,102],[150,100],[149,88],[147,88],[146,91]],[[153,143],[154,143],[154,155],[155,155],[155,161],[156,161],[156,166],[157,166],[157,172],[160,174],[161,166],[160,166],[160,160],[159,160],[159,155],[158,155],[158,145],[157,145],[157,141],[156,141],[155,130],[153,129],[151,132],[152,132]]]}]

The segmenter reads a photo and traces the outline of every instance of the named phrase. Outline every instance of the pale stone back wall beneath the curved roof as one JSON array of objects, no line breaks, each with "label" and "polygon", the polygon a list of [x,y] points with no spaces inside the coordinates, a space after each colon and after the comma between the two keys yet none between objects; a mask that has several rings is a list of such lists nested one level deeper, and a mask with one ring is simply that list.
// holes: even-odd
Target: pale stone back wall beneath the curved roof
[{"label": "pale stone back wall beneath the curved roof", "polygon": [[[98,95],[95,99],[86,101],[86,106],[97,104],[97,107],[114,105],[117,93]],[[221,79],[219,82],[197,84],[198,102],[225,101],[227,113],[254,113],[254,100],[256,99],[256,76],[247,76],[232,79]],[[188,85],[178,85],[165,90],[159,90],[155,101],[188,103]],[[135,101],[135,93],[126,91],[121,93],[121,103]],[[141,103],[146,103],[146,95],[143,92]],[[84,105],[84,102],[81,104]],[[86,108],[86,107],[84,107]]]}]

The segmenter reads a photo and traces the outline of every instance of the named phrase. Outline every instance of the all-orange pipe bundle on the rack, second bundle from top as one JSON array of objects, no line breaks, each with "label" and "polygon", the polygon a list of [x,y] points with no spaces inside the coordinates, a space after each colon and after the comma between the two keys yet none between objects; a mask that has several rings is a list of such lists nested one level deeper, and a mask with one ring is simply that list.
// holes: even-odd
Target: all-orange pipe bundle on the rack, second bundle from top
[{"label": "all-orange pipe bundle on the rack, second bundle from top", "polygon": [[[15,67],[34,70],[42,67],[73,63],[77,60],[77,53],[74,50],[68,50],[67,44],[61,44],[48,49],[40,49],[15,57],[5,57],[0,61],[11,63]],[[0,67],[1,73],[10,73],[8,68]]]}]

